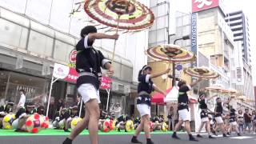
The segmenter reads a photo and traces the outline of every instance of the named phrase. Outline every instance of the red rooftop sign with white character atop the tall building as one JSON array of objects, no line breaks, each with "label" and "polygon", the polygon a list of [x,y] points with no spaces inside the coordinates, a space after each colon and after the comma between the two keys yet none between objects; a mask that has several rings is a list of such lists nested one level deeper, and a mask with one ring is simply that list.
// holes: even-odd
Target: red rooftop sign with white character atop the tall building
[{"label": "red rooftop sign with white character atop the tall building", "polygon": [[192,13],[218,7],[218,0],[192,0]]}]

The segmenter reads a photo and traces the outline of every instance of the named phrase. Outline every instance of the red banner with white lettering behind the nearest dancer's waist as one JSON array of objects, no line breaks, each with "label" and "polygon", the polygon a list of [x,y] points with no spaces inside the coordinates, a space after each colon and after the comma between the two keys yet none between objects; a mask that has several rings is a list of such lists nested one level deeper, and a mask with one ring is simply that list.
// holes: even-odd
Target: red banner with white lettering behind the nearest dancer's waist
[{"label": "red banner with white lettering behind the nearest dancer's waist", "polygon": [[[66,82],[77,82],[78,79],[78,72],[74,68],[70,68],[69,74],[64,78],[64,81]],[[100,89],[110,89],[111,87],[111,78],[109,77],[102,77],[102,84],[100,86]]]}]

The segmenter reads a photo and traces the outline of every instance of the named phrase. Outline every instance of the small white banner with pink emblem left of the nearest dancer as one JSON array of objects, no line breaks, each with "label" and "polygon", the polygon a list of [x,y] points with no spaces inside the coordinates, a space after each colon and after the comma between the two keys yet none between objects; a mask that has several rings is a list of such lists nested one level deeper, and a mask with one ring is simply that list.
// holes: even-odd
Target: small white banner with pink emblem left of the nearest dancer
[{"label": "small white banner with pink emblem left of the nearest dancer", "polygon": [[70,67],[69,66],[65,66],[65,65],[61,65],[58,63],[54,63],[54,78],[66,78],[66,76],[68,76],[68,74],[70,73]]}]

